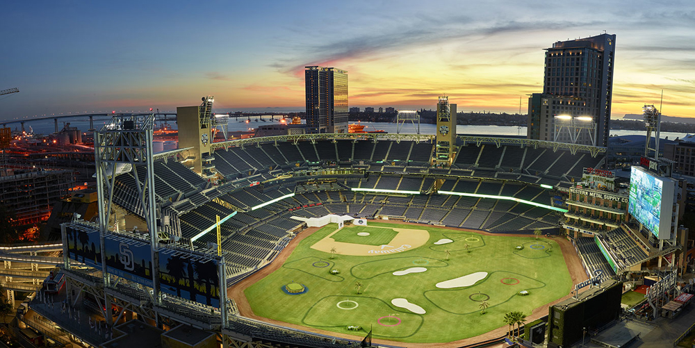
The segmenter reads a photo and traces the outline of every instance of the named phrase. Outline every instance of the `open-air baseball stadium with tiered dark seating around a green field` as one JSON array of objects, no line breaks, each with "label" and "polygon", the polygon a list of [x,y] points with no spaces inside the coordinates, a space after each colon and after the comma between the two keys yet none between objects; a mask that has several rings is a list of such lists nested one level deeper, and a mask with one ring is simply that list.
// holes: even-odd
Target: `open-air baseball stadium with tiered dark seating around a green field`
[{"label": "open-air baseball stadium with tiered dark seating around a green field", "polygon": [[[117,118],[95,141],[109,218],[63,224],[67,301],[100,304],[103,320],[186,324],[229,347],[473,346],[504,338],[511,311],[545,317],[593,274],[559,221],[600,147],[450,135],[440,165],[437,135],[192,149],[180,134],[181,149],[147,158],[152,124]],[[124,133],[134,145],[113,146]]]}]

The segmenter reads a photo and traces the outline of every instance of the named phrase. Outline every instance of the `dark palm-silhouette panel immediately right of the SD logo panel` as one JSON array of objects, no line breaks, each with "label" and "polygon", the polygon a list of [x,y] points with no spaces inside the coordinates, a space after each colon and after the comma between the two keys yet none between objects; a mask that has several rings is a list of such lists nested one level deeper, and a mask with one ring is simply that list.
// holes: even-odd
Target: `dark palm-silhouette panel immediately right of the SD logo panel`
[{"label": "dark palm-silhouette panel immediately right of the SD logo panel", "polygon": [[220,260],[191,251],[159,251],[161,292],[220,307]]}]

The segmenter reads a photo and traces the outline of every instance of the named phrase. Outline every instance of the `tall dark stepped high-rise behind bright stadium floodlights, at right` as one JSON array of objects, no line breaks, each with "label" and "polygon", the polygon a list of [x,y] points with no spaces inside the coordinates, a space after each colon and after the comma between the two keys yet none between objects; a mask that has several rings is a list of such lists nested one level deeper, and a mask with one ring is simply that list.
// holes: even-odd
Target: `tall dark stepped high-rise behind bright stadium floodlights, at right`
[{"label": "tall dark stepped high-rise behind bright stadium floodlights, at right", "polygon": [[528,138],[607,146],[614,53],[610,34],[546,49],[543,93],[529,98]]}]

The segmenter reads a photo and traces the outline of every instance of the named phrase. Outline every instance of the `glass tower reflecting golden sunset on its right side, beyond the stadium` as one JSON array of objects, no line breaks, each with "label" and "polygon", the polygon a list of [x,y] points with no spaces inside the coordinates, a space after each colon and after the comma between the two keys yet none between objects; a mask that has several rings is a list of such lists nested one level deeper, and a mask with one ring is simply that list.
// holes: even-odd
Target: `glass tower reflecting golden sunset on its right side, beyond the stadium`
[{"label": "glass tower reflecting golden sunset on its right side, beyond the stadium", "polygon": [[347,133],[347,72],[306,67],[306,126],[309,133]]}]

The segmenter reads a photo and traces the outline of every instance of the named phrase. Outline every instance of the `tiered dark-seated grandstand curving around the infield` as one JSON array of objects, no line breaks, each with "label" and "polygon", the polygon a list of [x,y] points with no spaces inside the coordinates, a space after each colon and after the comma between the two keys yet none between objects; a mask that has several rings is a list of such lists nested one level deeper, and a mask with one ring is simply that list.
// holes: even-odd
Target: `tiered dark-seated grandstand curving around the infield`
[{"label": "tiered dark-seated grandstand curving around the infield", "polygon": [[[569,185],[590,154],[512,145],[468,144],[450,169],[430,169],[430,141],[316,140],[220,147],[213,185],[176,158],[154,162],[156,200],[170,216],[169,231],[203,247],[216,242],[232,278],[269,263],[293,238],[298,217],[327,214],[484,229],[555,229],[555,190]],[[543,169],[545,168],[545,169]],[[542,170],[541,170],[542,169]],[[135,177],[116,177],[114,201],[142,216]],[[536,205],[534,207],[534,205]],[[546,207],[546,208],[542,208]]]}]

